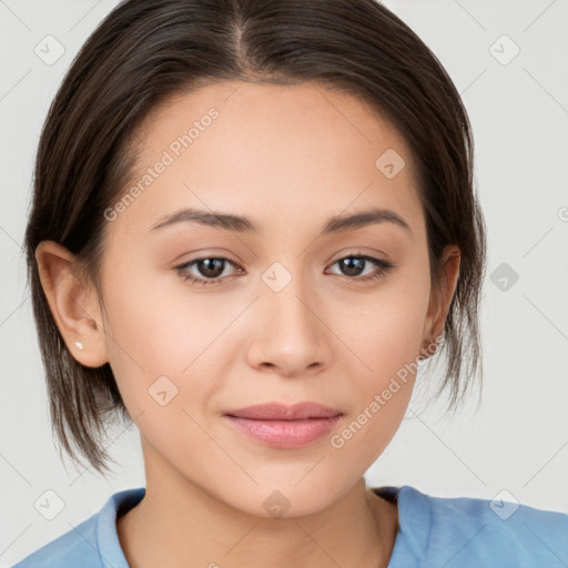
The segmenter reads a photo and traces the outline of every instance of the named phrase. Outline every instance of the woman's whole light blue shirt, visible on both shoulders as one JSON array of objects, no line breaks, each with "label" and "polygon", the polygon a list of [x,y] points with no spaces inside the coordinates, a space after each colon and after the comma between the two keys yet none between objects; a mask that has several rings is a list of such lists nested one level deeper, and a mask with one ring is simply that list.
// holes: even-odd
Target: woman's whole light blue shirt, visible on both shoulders
[{"label": "woman's whole light blue shirt, visible on both shoulders", "polygon": [[[432,497],[407,485],[376,487],[397,503],[388,568],[566,568],[568,514],[469,497]],[[116,535],[145,488],[115,493],[102,509],[12,568],[129,568]]]}]

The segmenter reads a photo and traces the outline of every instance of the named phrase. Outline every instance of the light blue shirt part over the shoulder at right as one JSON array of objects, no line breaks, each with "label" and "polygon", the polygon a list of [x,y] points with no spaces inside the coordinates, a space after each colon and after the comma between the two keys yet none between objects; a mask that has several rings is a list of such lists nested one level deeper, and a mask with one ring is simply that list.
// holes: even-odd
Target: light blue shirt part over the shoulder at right
[{"label": "light blue shirt part over the shoulder at right", "polygon": [[400,531],[426,565],[452,567],[568,566],[568,514],[495,499],[435,497],[398,490]]}]

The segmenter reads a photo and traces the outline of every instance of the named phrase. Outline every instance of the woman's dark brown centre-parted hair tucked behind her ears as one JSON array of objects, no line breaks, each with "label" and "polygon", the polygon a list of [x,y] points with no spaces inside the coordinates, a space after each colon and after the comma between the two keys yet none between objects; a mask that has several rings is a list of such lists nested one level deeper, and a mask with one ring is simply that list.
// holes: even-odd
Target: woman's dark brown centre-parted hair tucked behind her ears
[{"label": "woman's dark brown centre-parted hair tucked behind her ears", "polygon": [[43,240],[62,244],[100,290],[103,212],[134,163],[133,132],[166,97],[223,80],[320,82],[366,101],[398,129],[419,172],[433,290],[444,247],[455,244],[462,254],[436,355],[447,359],[437,394],[452,387],[448,409],[483,371],[486,236],[471,128],[450,78],[408,26],[374,0],[128,0],[87,40],[50,106],[26,231],[53,432],[75,462],[81,454],[99,473],[109,469],[103,426],[130,416],[110,365],[85,367],[68,351],[41,287],[36,247]]}]

